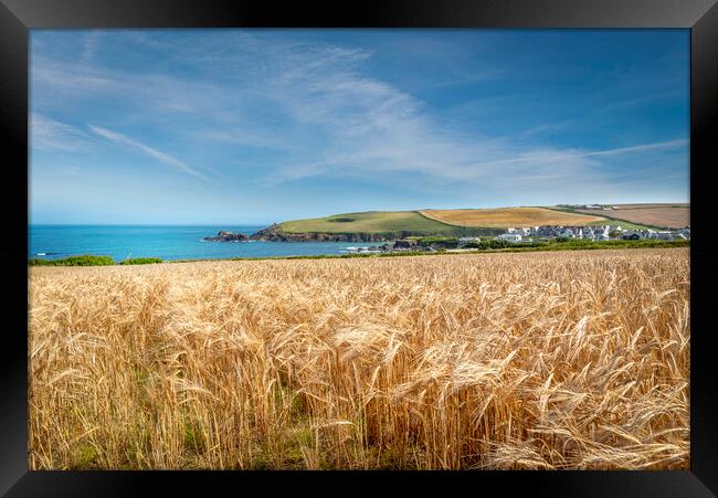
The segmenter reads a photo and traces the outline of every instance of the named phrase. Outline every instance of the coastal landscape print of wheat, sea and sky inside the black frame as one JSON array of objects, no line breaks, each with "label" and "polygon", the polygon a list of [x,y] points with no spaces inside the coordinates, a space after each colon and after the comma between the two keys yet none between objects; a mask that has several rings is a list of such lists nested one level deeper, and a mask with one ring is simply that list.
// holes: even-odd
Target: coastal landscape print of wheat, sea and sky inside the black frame
[{"label": "coastal landscape print of wheat, sea and sky inside the black frame", "polygon": [[30,30],[28,466],[689,469],[687,29]]}]

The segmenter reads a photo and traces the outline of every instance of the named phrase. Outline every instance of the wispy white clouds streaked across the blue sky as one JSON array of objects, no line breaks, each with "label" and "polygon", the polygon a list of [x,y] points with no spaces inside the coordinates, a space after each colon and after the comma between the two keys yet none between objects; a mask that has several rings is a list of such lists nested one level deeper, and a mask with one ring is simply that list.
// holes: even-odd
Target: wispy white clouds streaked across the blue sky
[{"label": "wispy white clouds streaked across the blue sky", "polygon": [[[91,36],[84,40],[82,60],[86,64],[82,67],[38,60],[33,78],[41,85],[41,97],[52,99],[56,92],[72,99],[92,95],[122,102],[122,118],[112,118],[171,125],[172,136],[162,147],[193,140],[211,151],[208,142],[219,141],[236,146],[237,156],[246,149],[253,149],[252,153],[272,149],[276,157],[262,162],[262,172],[254,174],[260,187],[352,176],[444,191],[498,192],[526,187],[610,191],[612,179],[605,165],[615,158],[687,144],[671,140],[579,150],[527,144],[526,136],[497,138],[466,131],[461,123],[440,120],[415,95],[371,76],[367,66],[373,53],[360,47],[296,42],[266,33],[166,39],[129,32],[123,41],[167,55],[162,68],[129,73],[101,65],[94,56],[97,39]],[[167,71],[170,64],[178,64],[180,71]],[[444,84],[500,75],[487,68]],[[103,124],[113,127],[112,119]],[[547,124],[545,129],[527,134],[540,135],[561,126],[567,125]],[[97,126],[91,130],[178,171],[205,178],[180,159],[126,135]],[[232,165],[228,161],[226,168]],[[583,183],[577,186],[577,178]]]}]

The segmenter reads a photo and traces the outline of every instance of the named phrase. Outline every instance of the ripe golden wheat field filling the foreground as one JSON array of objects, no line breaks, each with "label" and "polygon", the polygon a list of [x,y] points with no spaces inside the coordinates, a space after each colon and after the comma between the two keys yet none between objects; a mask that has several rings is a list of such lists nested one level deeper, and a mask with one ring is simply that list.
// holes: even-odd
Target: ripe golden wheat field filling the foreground
[{"label": "ripe golden wheat field filling the foreground", "polygon": [[31,469],[689,466],[689,253],[29,273]]}]

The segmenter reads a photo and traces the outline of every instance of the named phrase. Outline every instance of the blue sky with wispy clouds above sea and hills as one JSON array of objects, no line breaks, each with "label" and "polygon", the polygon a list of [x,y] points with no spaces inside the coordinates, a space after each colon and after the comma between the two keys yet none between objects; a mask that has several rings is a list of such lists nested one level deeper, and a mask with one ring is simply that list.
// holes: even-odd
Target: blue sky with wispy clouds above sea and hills
[{"label": "blue sky with wispy clouds above sea and hills", "polygon": [[687,30],[31,32],[32,223],[687,202]]}]

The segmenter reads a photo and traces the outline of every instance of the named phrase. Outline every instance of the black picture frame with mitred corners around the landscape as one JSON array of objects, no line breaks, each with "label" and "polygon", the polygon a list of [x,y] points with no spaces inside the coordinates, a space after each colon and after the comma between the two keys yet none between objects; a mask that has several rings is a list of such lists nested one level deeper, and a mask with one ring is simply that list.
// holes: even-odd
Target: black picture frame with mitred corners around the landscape
[{"label": "black picture frame with mitred corners around the landscape", "polygon": [[[718,496],[718,390],[711,372],[708,316],[714,275],[708,218],[710,159],[715,157],[718,99],[717,0],[383,0],[307,4],[232,0],[0,0],[0,137],[6,191],[0,195],[4,237],[0,252],[8,295],[2,300],[3,361],[0,362],[0,494],[9,497],[126,496],[152,492],[342,494],[388,489],[391,478],[404,494],[431,487],[503,495],[592,497]],[[468,473],[253,473],[253,471],[29,471],[27,230],[29,30],[40,28],[683,28],[690,30],[690,224],[691,337],[690,470],[680,471],[468,471]],[[695,268],[698,268],[696,272]],[[27,329],[24,329],[27,330]],[[308,484],[331,479],[336,486]],[[356,487],[352,486],[356,484]],[[157,489],[157,488],[156,488]],[[210,491],[211,492],[211,491]],[[278,494],[278,492],[276,492]]]}]

